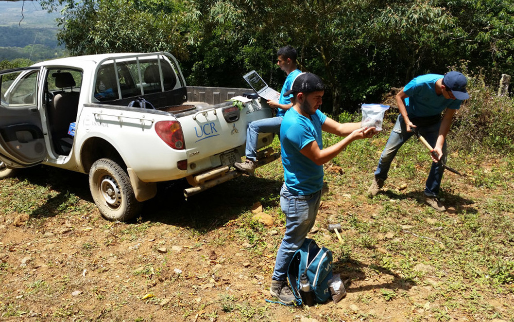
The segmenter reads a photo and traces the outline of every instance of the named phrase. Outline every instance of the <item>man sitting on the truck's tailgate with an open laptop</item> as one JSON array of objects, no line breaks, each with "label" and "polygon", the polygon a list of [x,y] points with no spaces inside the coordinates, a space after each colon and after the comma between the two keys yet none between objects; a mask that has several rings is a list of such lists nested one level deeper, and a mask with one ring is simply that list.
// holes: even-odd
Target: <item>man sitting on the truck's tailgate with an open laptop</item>
[{"label": "man sitting on the truck's tailgate with an open laptop", "polygon": [[292,95],[284,96],[284,93],[291,88],[292,81],[301,73],[296,65],[297,52],[295,48],[291,46],[282,47],[277,51],[277,57],[277,65],[279,65],[280,69],[284,70],[287,75],[284,86],[282,86],[279,101],[268,101],[268,105],[271,108],[277,109],[277,114],[275,117],[253,121],[248,124],[248,129],[246,130],[246,160],[245,162],[236,162],[234,164],[238,170],[244,171],[249,175],[252,175],[255,171],[259,133],[278,133],[280,131],[282,118],[286,111],[292,106]]}]

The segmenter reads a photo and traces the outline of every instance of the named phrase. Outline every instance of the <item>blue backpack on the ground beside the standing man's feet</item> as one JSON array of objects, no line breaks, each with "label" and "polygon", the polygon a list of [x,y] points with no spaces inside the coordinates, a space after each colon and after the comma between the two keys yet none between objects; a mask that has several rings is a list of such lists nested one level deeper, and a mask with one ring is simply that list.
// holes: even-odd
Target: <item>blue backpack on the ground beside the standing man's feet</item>
[{"label": "blue backpack on the ground beside the standing man's feet", "polygon": [[324,303],[331,296],[328,280],[332,278],[332,252],[319,247],[312,239],[305,238],[302,246],[293,254],[287,269],[287,279],[291,285],[297,304],[302,304],[300,276],[307,275],[310,289],[314,290],[316,302]]}]

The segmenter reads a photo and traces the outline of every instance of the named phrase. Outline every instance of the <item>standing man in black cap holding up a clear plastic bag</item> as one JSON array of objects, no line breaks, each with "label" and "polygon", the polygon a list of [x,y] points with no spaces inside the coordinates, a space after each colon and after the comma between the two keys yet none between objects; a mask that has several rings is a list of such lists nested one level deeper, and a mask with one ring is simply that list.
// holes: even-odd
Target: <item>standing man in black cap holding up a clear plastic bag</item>
[{"label": "standing man in black cap holding up a clear plastic bag", "polygon": [[[284,166],[280,206],[286,215],[286,231],[277,252],[270,294],[286,304],[295,300],[287,282],[287,267],[316,220],[323,187],[323,164],[350,142],[375,134],[374,127],[360,128],[360,122],[341,124],[321,113],[324,88],[318,76],[302,73],[284,93],[294,95],[294,105],[285,114],[280,128]],[[321,131],[346,137],[323,149]]]}]

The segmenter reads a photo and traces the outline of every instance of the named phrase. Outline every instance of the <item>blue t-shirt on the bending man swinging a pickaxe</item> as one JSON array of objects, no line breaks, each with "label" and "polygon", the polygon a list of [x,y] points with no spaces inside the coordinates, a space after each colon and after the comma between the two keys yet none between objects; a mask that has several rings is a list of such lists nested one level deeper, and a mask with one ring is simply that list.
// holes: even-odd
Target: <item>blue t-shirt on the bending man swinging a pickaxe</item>
[{"label": "blue t-shirt on the bending man swinging a pickaxe", "polygon": [[443,77],[437,74],[418,76],[403,87],[403,92],[409,96],[405,99],[407,115],[433,116],[440,114],[446,108],[453,110],[461,108],[462,100],[447,99],[443,95],[435,94],[435,82]]}]

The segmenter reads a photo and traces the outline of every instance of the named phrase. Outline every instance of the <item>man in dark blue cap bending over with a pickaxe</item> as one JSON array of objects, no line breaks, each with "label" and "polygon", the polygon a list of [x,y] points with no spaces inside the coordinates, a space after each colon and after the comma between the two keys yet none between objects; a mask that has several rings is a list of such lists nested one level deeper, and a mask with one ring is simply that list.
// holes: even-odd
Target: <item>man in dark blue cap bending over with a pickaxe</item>
[{"label": "man in dark blue cap bending over with a pickaxe", "polygon": [[[469,98],[466,84],[466,77],[458,71],[450,71],[444,76],[428,74],[414,78],[396,95],[400,115],[380,155],[375,179],[368,190],[370,196],[375,196],[383,187],[393,158],[414,134],[411,129],[415,128],[437,156],[432,156],[432,168],[425,184],[425,203],[435,210],[446,210],[437,199],[444,171],[438,161],[443,158],[446,162],[446,135],[455,111],[460,109],[462,100]],[[445,112],[443,118],[442,112]]]}]

